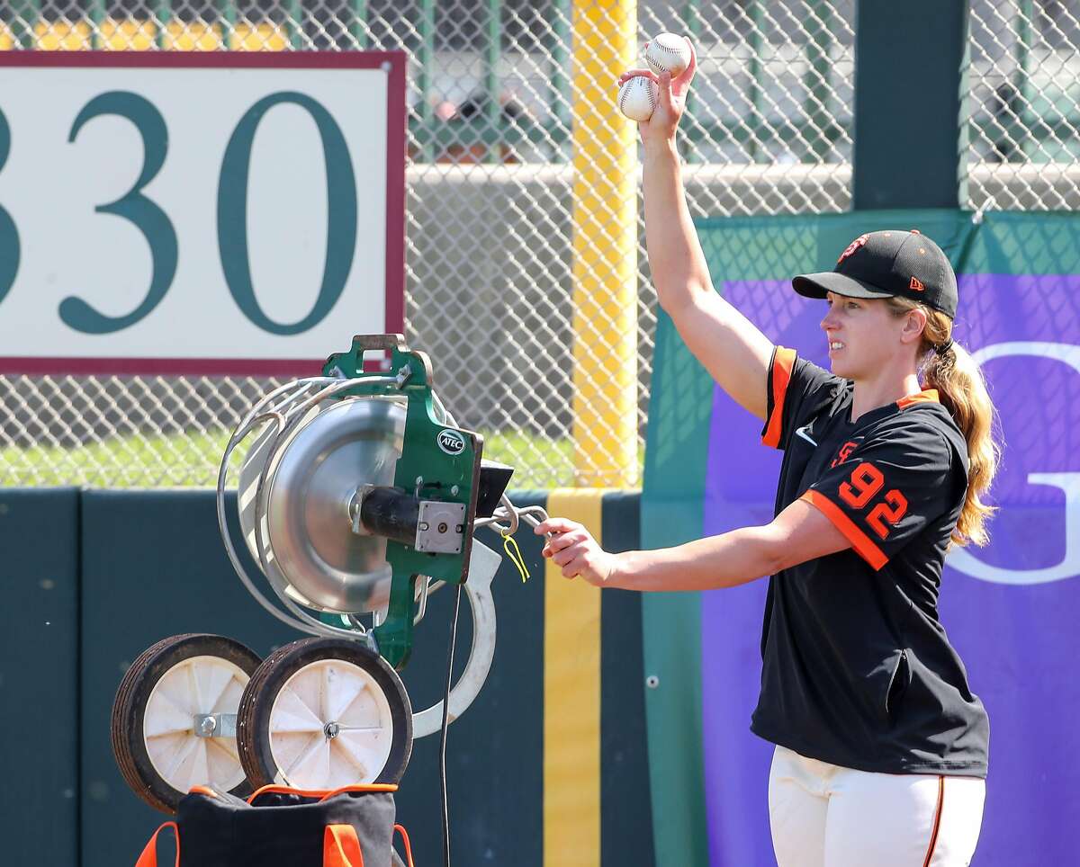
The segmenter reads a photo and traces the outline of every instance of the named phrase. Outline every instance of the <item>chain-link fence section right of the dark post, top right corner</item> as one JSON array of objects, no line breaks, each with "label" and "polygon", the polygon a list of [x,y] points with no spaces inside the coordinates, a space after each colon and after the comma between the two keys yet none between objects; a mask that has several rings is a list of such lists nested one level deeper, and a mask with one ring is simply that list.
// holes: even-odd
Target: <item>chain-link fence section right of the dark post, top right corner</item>
[{"label": "chain-link fence section right of the dark post, top right corner", "polygon": [[972,0],[969,57],[969,206],[1080,207],[1080,0]]}]

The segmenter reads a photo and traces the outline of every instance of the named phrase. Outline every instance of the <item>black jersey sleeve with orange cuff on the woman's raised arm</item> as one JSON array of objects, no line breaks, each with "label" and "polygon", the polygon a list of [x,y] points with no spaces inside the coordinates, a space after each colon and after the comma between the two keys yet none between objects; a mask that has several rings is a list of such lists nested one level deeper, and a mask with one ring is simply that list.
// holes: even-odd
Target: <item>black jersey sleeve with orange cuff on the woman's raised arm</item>
[{"label": "black jersey sleeve with orange cuff on the woman's raised arm", "polygon": [[761,442],[786,449],[792,432],[829,404],[842,385],[842,379],[800,358],[795,350],[777,347],[766,380],[768,406]]}]

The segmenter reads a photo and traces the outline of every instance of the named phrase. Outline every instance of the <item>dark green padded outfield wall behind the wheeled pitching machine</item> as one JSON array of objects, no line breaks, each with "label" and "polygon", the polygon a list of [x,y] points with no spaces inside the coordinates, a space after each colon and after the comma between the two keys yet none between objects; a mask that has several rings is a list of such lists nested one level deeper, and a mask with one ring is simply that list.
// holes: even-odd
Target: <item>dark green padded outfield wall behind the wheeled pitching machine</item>
[{"label": "dark green padded outfield wall behind the wheeled pitching machine", "polygon": [[[511,496],[523,506],[546,505],[557,495]],[[594,531],[605,547],[639,545],[637,492],[575,496],[595,499],[602,526]],[[490,531],[478,538],[501,547]],[[640,597],[599,594],[598,621],[585,626],[598,652],[591,681],[599,693],[593,702],[598,732],[579,729],[572,718],[549,719],[550,708],[571,716],[573,708],[545,696],[545,660],[555,665],[565,653],[573,663],[585,641],[559,637],[555,621],[565,613],[553,618],[545,611],[539,540],[523,529],[517,541],[531,577],[523,583],[508,561],[496,577],[491,673],[449,730],[454,864],[649,864]],[[239,537],[238,548],[243,554]],[[133,865],[164,816],[135,797],[112,758],[109,715],[127,666],[156,640],[178,633],[228,635],[262,656],[303,636],[264,612],[232,572],[213,491],[3,489],[0,551],[0,767],[6,776],[0,787],[0,863]],[[450,592],[434,594],[417,627],[403,672],[415,708],[441,697],[453,601]],[[463,607],[458,669],[470,641]],[[569,781],[597,793],[599,803],[589,815],[595,815],[590,821],[598,852],[544,851],[545,837],[566,838],[551,825],[573,821],[550,802],[563,789],[545,771],[545,731],[563,732],[559,747],[568,753],[592,757],[581,761],[580,772],[571,767],[569,777],[564,769],[559,785]],[[397,796],[399,821],[409,830],[419,865],[442,863],[437,741],[436,734],[416,742]]]}]

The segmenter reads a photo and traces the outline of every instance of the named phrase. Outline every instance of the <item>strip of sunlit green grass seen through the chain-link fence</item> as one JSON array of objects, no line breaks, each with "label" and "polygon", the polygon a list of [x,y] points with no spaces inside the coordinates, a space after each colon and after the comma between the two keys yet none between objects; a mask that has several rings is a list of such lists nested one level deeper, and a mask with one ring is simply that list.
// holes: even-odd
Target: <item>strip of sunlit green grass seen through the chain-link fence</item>
[{"label": "strip of sunlit green grass seen through the chain-link fence", "polygon": [[[8,446],[0,449],[0,487],[214,487],[228,439],[229,432],[221,430],[131,434],[80,446]],[[486,432],[484,457],[513,466],[511,488],[517,490],[573,485],[568,437]],[[639,448],[639,476],[643,466]]]}]

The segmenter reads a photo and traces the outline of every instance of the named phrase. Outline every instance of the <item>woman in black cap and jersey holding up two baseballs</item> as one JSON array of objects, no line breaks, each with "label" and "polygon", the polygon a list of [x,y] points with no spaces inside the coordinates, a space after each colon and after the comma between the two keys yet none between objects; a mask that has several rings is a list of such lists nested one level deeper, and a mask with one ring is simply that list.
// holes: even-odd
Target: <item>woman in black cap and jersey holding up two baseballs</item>
[{"label": "woman in black cap and jersey holding up two baseballs", "polygon": [[[855,239],[794,279],[826,302],[832,372],[771,342],[712,288],[675,131],[694,73],[645,74],[646,236],[660,302],[716,381],[784,450],[775,518],[660,551],[608,554],[552,518],[567,578],[639,591],[771,575],[751,729],[774,743],[780,867],[966,865],[985,797],[986,713],[937,618],[951,544],[985,544],[998,449],[978,368],[950,338],[956,276],[915,231]],[[621,81],[620,81],[621,83]],[[920,374],[926,389],[920,384]]]}]

